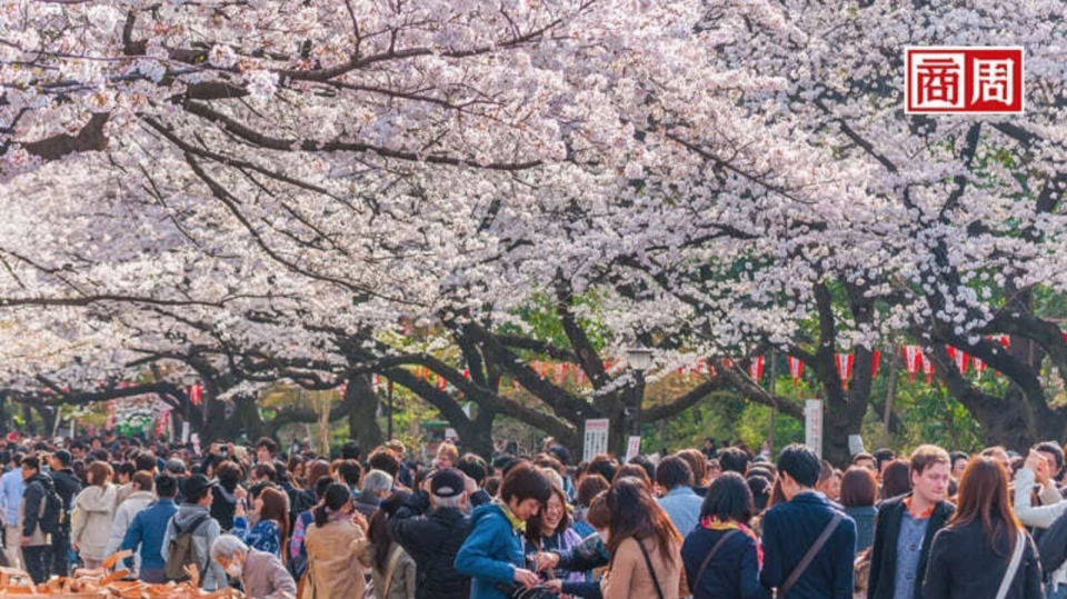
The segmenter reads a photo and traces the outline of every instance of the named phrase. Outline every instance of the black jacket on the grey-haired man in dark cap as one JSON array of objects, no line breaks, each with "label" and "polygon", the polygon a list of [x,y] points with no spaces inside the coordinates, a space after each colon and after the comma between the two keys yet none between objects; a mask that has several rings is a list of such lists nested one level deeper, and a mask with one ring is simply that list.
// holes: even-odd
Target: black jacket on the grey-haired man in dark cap
[{"label": "black jacket on the grey-haired man in dark cap", "polygon": [[389,518],[389,531],[411,556],[418,586],[416,599],[468,599],[470,577],[452,565],[456,553],[470,535],[470,519],[459,509],[430,510],[425,491],[411,495]]}]

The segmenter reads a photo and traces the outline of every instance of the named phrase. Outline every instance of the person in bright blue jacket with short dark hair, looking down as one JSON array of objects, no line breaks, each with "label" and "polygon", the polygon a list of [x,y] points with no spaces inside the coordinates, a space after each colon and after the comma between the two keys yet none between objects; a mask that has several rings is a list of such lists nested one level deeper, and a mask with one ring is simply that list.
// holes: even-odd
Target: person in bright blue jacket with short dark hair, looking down
[{"label": "person in bright blue jacket with short dark hair, looking down", "polygon": [[455,563],[459,573],[471,577],[470,599],[507,599],[517,586],[537,585],[537,575],[527,568],[522,533],[551,492],[545,475],[529,462],[520,463],[505,477],[500,500],[475,510],[470,536]]}]

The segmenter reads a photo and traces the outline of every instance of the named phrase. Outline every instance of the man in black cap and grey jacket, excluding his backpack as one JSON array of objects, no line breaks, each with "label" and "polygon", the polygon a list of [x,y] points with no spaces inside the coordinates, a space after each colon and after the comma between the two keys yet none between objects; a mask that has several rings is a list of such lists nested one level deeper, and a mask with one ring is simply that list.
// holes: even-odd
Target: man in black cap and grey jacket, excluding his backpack
[{"label": "man in black cap and grey jacket, excluding his backpack", "polygon": [[219,522],[211,518],[211,481],[203,475],[192,475],[185,480],[182,485],[182,495],[185,501],[178,507],[178,513],[167,525],[167,532],[163,535],[161,545],[163,559],[167,559],[167,548],[170,547],[170,539],[178,536],[178,530],[188,530],[197,520],[202,523],[192,531],[192,543],[197,551],[197,561],[203,566],[200,568],[200,588],[206,591],[216,591],[227,586],[226,571],[212,559],[211,545],[222,533]]}]

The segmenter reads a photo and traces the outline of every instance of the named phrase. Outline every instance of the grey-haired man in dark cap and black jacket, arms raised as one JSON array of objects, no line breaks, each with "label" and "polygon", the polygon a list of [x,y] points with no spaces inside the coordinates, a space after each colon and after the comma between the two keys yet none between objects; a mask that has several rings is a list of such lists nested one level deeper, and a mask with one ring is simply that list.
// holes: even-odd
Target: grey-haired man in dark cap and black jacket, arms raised
[{"label": "grey-haired man in dark cap and black jacket, arms raised", "polygon": [[390,515],[392,538],[415,560],[416,577],[420,581],[415,590],[416,599],[470,596],[470,577],[459,573],[452,563],[470,533],[470,520],[463,510],[468,497],[477,489],[473,479],[456,468],[445,468]]}]

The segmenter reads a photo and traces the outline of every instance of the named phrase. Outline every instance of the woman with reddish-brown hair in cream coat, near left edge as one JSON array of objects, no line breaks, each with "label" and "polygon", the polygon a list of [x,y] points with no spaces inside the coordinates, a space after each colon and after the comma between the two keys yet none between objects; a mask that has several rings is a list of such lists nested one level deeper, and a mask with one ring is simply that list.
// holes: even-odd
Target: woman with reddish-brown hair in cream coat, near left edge
[{"label": "woman with reddish-brown hair in cream coat, near left edge", "polygon": [[70,542],[88,569],[103,566],[108,538],[114,521],[118,492],[111,485],[111,467],[96,461],[89,465],[89,486],[74,499],[70,517]]}]

